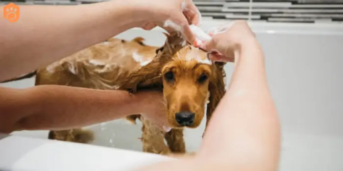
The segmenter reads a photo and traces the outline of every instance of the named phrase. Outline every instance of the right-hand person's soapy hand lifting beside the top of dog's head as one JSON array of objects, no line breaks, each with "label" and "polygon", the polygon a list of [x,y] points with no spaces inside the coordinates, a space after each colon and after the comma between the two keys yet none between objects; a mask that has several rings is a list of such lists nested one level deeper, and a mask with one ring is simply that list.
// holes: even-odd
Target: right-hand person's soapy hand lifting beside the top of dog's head
[{"label": "right-hand person's soapy hand lifting beside the top of dog's head", "polygon": [[209,58],[213,61],[234,62],[237,61],[237,53],[242,45],[256,41],[255,34],[251,31],[246,21],[234,21],[230,25],[221,28],[221,32],[215,34],[212,39],[201,45],[210,53]]}]

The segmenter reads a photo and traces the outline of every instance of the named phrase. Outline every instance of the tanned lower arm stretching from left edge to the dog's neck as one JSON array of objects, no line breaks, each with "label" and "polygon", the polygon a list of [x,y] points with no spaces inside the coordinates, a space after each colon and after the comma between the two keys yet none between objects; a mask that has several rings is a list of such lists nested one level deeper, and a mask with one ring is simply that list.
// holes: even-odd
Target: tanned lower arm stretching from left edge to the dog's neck
[{"label": "tanned lower arm stretching from left edge to the dog's neck", "polygon": [[161,111],[151,107],[157,106],[154,99],[162,99],[162,94],[140,92],[129,95],[126,91],[60,85],[26,89],[0,87],[0,132],[78,128],[129,114]]}]

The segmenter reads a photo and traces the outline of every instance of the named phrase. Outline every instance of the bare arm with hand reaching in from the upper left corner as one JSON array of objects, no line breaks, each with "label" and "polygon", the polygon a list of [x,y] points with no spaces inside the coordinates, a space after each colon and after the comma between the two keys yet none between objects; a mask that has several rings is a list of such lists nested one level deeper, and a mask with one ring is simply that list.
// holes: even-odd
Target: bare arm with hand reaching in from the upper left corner
[{"label": "bare arm with hand reaching in from the upper left corner", "polygon": [[20,6],[18,21],[0,20],[0,81],[31,72],[129,28],[148,30],[159,25],[174,30],[164,27],[166,20],[180,24],[181,33],[192,42],[194,35],[188,23],[197,24],[199,12],[192,0],[182,3],[111,0],[72,6]]}]

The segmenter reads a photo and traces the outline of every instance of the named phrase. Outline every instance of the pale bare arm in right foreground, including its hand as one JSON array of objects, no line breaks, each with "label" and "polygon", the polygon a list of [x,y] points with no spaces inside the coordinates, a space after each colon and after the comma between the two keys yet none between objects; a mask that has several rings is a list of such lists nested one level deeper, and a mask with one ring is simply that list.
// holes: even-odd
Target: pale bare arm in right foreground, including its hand
[{"label": "pale bare arm in right foreground, including its hand", "polygon": [[213,37],[207,50],[235,59],[228,91],[212,114],[196,157],[158,163],[141,171],[276,171],[280,125],[270,96],[264,54],[245,21]]}]

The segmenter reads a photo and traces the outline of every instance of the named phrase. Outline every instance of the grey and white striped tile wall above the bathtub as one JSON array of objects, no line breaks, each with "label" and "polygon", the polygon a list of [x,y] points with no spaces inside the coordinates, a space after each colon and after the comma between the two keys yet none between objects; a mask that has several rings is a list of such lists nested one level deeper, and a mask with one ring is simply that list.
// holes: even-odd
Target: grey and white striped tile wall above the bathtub
[{"label": "grey and white striped tile wall above the bathtub", "polygon": [[[104,0],[0,0],[0,3],[77,5]],[[203,17],[262,22],[342,23],[343,0],[194,0]],[[251,5],[251,6],[250,6]]]}]

